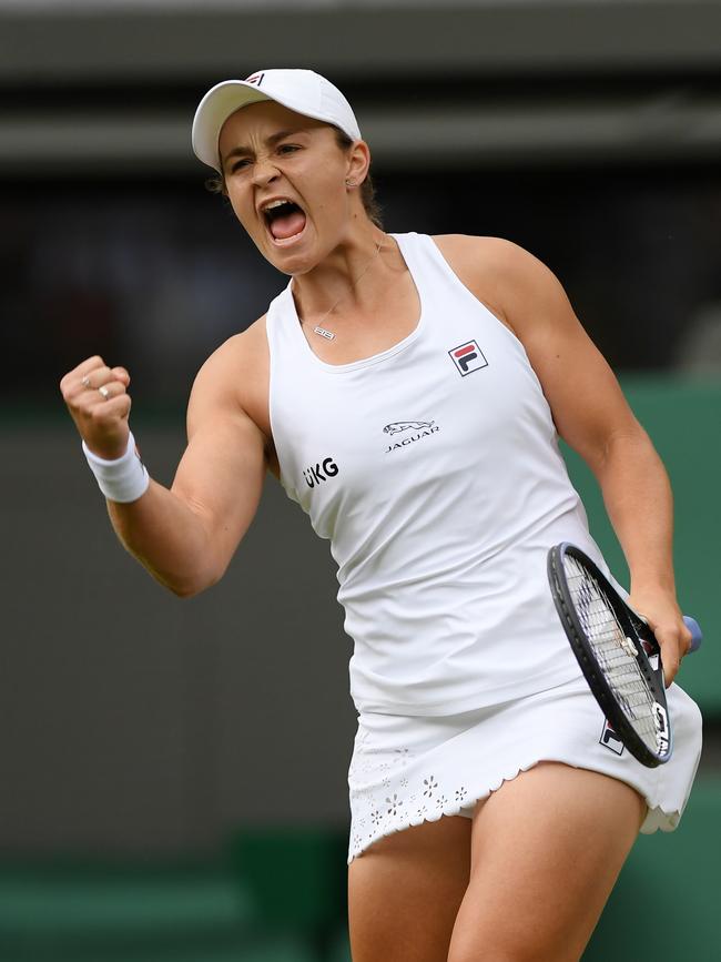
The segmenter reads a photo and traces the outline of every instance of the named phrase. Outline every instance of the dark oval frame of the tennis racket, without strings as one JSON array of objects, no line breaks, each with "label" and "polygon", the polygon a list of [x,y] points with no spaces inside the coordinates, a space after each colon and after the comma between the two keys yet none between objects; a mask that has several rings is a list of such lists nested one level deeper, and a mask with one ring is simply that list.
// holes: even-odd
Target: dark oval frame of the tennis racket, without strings
[{"label": "dark oval frame of the tennis racket, without strings", "polygon": [[[664,728],[664,741],[659,752],[653,752],[636,732],[631,722],[627,719],[623,710],[619,707],[611,686],[606,680],[603,670],[598,664],[590,642],[586,636],[580,619],[576,612],[576,607],[572,601],[571,591],[566,579],[563,567],[563,557],[569,555],[575,558],[583,567],[588,568],[589,573],[599,584],[612,609],[618,618],[619,625],[623,629],[624,635],[633,641],[636,648],[636,661],[639,671],[646,679],[651,693],[656,700],[657,713]],[[666,701],[666,689],[663,683],[663,667],[661,665],[661,649],[656,636],[643,621],[643,619],[618,594],[617,589],[611,585],[606,575],[576,545],[569,541],[562,541],[560,545],[555,545],[548,553],[548,580],[551,589],[551,596],[556,610],[561,620],[561,625],[566,631],[571,650],[576,656],[581,671],[596,698],[601,711],[621,739],[629,752],[641,764],[648,768],[656,768],[659,764],[664,764],[673,751],[673,740],[671,732],[671,723],[669,711]],[[648,652],[648,654],[647,654]],[[649,661],[649,655],[658,658],[658,668]]]}]

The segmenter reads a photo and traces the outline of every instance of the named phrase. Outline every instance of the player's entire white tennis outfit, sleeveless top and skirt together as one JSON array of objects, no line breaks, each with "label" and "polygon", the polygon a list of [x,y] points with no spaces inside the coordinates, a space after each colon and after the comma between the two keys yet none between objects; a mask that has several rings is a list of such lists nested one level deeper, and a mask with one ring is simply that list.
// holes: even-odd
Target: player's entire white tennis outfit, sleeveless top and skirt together
[{"label": "player's entire white tennis outfit, sleeveless top and skirt together", "polygon": [[267,313],[281,482],[331,540],[354,639],[359,713],[348,861],[424,819],[467,814],[540,759],[613,774],[673,828],[700,755],[700,716],[673,686],[676,750],[646,769],[590,695],[554,607],[551,545],[603,571],[522,344],[435,242],[393,234],[420,300],[402,342],[323,362],[291,284]]}]

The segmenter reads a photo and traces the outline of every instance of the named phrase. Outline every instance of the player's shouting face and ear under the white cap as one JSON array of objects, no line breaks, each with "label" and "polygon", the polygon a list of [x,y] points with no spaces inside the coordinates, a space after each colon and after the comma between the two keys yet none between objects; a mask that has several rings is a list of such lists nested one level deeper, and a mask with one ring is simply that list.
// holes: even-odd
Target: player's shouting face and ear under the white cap
[{"label": "player's shouting face and ear under the white cap", "polygon": [[263,256],[283,273],[305,273],[346,235],[353,201],[345,181],[359,182],[367,155],[358,144],[345,152],[328,124],[272,101],[244,107],[223,124],[219,148],[229,200]]}]

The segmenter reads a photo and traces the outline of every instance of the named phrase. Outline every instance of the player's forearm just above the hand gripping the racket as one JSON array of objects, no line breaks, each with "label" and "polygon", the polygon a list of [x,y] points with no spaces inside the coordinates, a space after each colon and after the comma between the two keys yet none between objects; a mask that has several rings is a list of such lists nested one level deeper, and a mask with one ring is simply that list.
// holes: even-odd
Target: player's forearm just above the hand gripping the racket
[{"label": "player's forearm just above the hand gripping the racket", "polygon": [[646,432],[639,427],[616,436],[595,472],[629,566],[631,594],[656,589],[674,594],[673,497]]}]

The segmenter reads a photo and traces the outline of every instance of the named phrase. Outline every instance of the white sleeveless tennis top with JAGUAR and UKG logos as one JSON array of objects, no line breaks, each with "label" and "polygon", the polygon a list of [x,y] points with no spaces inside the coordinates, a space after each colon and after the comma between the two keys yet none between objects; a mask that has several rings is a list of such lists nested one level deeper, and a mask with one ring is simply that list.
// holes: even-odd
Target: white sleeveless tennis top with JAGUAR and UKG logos
[{"label": "white sleeveless tennis top with JAGUAR and UKG logos", "polygon": [[267,314],[271,425],[283,487],[338,565],[356,708],[445,715],[577,677],[546,555],[602,558],[521,343],[429,236],[392,236],[417,326],[326,364],[288,285]]}]

